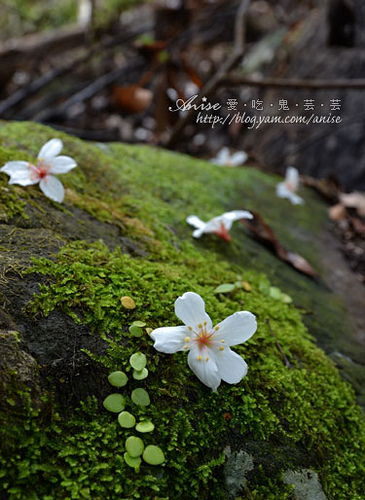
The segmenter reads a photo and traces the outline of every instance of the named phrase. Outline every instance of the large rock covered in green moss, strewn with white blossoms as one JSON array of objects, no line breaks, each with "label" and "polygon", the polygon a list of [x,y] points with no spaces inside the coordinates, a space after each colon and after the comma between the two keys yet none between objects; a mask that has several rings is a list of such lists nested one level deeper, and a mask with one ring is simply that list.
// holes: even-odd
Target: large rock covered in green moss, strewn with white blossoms
[{"label": "large rock covered in green moss, strewn with white blossoms", "polygon": [[[0,163],[32,159],[54,136],[78,162],[62,178],[63,205],[38,186],[8,186],[0,177],[1,326],[20,332],[43,391],[33,404],[21,374],[2,377],[4,498],[289,500],[298,487],[287,484],[288,473],[284,481],[285,471],[308,469],[327,498],[362,499],[362,414],[313,340],[335,345],[333,331],[348,333],[338,299],[239,224],[227,244],[215,236],[193,241],[185,223],[191,213],[208,219],[255,209],[320,270],[318,252],[306,245],[324,222],[320,202],[305,193],[310,209],[288,210],[273,196],[275,176],[153,148],[85,144],[35,124],[0,129]],[[249,287],[214,293],[237,276]],[[271,285],[293,304],[272,296]],[[157,353],[148,335],[148,328],[177,324],[174,301],[189,290],[204,298],[213,322],[242,309],[258,320],[257,333],[235,348],[248,375],[217,393],[198,381],[184,353]],[[123,306],[125,296],[135,308]],[[142,380],[133,377],[135,352],[147,356]],[[127,374],[125,387],[108,383],[115,370]],[[148,391],[148,406],[133,402],[136,388]],[[152,432],[123,428],[104,409],[118,392],[125,411],[151,421]],[[150,447],[156,456],[137,465],[125,447],[131,436],[163,455]]]}]

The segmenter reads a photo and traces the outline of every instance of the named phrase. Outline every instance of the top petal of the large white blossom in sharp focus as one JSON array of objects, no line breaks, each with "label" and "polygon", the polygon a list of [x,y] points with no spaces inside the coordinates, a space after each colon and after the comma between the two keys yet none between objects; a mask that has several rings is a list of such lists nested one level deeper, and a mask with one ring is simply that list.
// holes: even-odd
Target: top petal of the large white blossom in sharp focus
[{"label": "top petal of the large white blossom in sharp focus", "polygon": [[207,330],[212,329],[212,321],[205,312],[204,300],[194,292],[186,292],[175,301],[175,314],[186,326],[194,332],[199,331],[198,325],[206,323]]}]

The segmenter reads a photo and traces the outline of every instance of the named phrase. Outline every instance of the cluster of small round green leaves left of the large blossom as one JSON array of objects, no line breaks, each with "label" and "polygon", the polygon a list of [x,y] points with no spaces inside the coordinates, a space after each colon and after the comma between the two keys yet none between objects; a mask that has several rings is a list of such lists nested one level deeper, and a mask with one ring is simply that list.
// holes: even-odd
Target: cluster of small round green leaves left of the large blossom
[{"label": "cluster of small round green leaves left of the large blossom", "polygon": [[[141,328],[145,326],[145,323],[135,321],[132,326]],[[129,364],[133,368],[133,378],[135,380],[142,380],[148,376],[148,369],[146,368],[147,358],[142,352],[132,354],[129,358]],[[127,385],[128,376],[122,371],[115,371],[109,375],[108,381],[112,386],[120,388]],[[151,402],[148,392],[142,387],[133,389],[130,399],[140,409],[149,406]],[[132,429],[134,427],[141,434],[146,434],[152,432],[155,428],[154,424],[148,418],[141,418],[136,423],[135,416],[125,410],[127,406],[126,397],[118,392],[109,394],[104,399],[103,405],[108,411],[118,413],[118,423],[124,429]],[[124,461],[129,467],[134,468],[136,472],[139,472],[142,462],[141,457],[149,465],[161,465],[165,461],[165,456],[161,448],[153,444],[145,446],[142,439],[137,436],[129,436],[126,439],[125,449]]]}]

